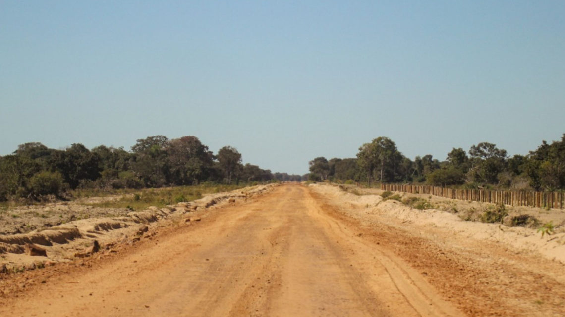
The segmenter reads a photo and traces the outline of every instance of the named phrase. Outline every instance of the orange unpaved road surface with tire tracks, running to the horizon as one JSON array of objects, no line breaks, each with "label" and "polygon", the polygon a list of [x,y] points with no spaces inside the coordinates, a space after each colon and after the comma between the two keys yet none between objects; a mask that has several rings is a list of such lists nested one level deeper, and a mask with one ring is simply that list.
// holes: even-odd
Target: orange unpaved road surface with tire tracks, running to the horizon
[{"label": "orange unpaved road surface with tire tracks, running to the horizon", "polygon": [[[471,289],[483,300],[474,303],[446,269],[453,262],[445,257],[457,254],[430,248],[444,258],[428,255],[423,274],[407,250],[421,252],[427,243],[410,231],[380,236],[385,229],[348,218],[308,187],[285,184],[114,256],[29,272],[34,283],[0,298],[0,316],[551,316],[562,308],[556,303],[548,314],[529,303],[512,311],[516,298],[505,306],[493,300],[502,291]],[[453,270],[465,280],[481,273]],[[541,278],[550,279],[538,281],[551,285],[547,293],[565,294],[560,281]]]}]

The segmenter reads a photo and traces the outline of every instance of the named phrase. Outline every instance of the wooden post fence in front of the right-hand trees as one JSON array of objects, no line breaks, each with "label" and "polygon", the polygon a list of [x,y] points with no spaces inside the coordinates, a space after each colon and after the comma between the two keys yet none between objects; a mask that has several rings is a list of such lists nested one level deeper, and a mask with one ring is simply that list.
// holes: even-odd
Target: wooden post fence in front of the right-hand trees
[{"label": "wooden post fence in front of the right-hand trees", "polygon": [[405,193],[423,193],[459,200],[473,200],[505,204],[510,206],[529,206],[541,208],[565,208],[564,192],[533,191],[489,191],[489,190],[454,190],[453,188],[429,185],[381,184],[381,190]]}]

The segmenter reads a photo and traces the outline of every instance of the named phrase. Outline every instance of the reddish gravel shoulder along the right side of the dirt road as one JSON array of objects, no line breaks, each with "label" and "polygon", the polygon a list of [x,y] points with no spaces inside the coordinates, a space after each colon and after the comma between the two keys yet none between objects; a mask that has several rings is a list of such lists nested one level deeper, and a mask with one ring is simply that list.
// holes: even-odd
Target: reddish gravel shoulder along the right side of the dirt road
[{"label": "reddish gravel shoulder along the right side of the dirt road", "polygon": [[502,244],[460,239],[441,228],[366,217],[334,197],[312,195],[337,223],[357,228],[363,240],[402,258],[469,316],[565,315],[560,263]]}]

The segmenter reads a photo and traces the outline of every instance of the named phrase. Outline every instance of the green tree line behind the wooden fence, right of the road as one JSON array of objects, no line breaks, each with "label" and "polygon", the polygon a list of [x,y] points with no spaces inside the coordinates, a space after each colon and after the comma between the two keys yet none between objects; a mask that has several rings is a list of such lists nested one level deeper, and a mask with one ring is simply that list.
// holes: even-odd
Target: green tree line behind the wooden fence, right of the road
[{"label": "green tree line behind the wooden fence, right of the road", "polygon": [[431,155],[412,161],[396,144],[379,137],[363,144],[355,158],[316,157],[310,161],[311,180],[337,182],[418,183],[460,188],[565,190],[565,134],[551,144],[543,141],[528,155],[509,157],[496,144],[481,142],[468,152],[453,148],[445,161]]}]

